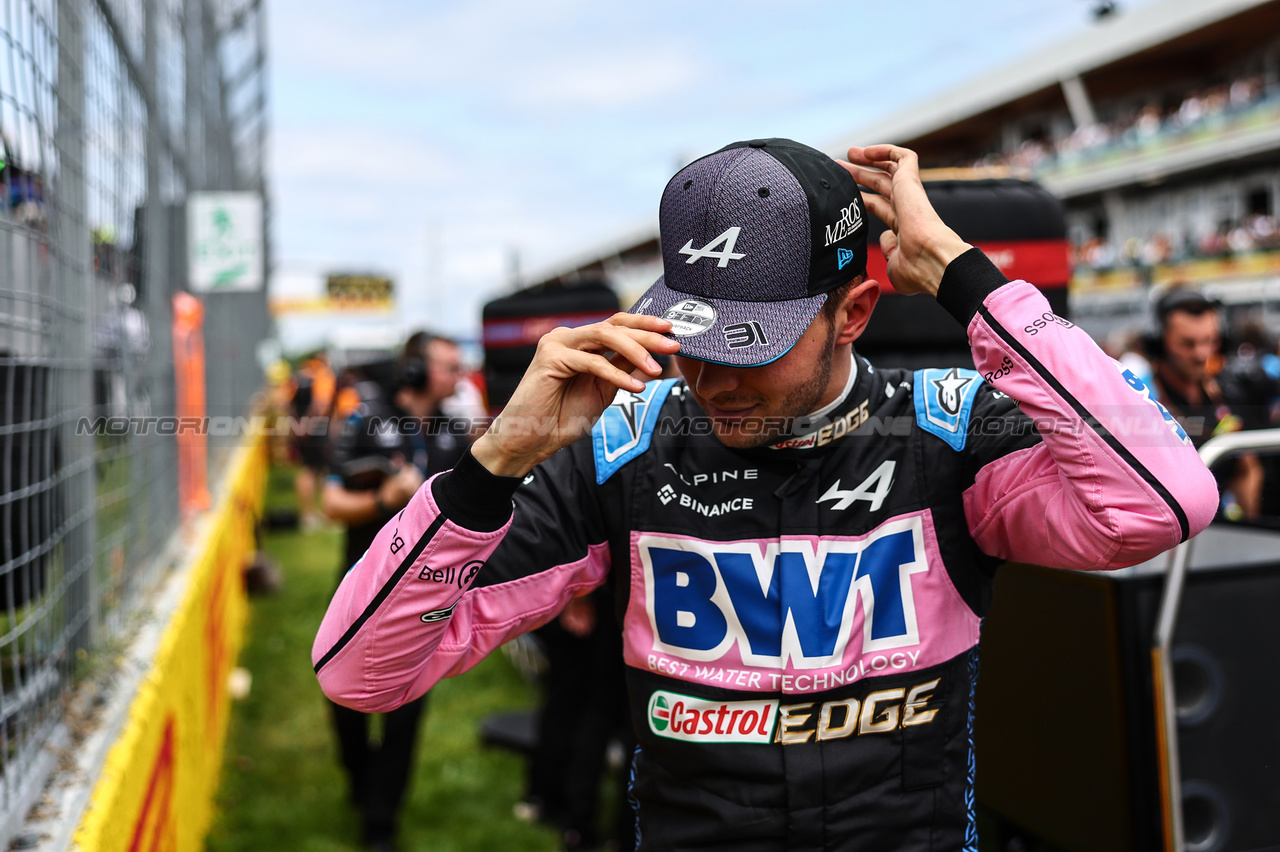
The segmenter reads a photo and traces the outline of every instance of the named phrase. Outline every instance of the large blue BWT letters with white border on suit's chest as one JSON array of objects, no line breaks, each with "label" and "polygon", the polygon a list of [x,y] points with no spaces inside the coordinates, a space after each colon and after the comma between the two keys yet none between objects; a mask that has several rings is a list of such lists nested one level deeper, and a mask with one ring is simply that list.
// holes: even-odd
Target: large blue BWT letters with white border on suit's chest
[{"label": "large blue BWT letters with white border on suit's chest", "polygon": [[858,635],[861,654],[920,643],[913,576],[929,571],[920,516],[859,540],[643,533],[636,546],[654,651],[714,661],[736,647],[749,667],[820,669],[841,665]]}]

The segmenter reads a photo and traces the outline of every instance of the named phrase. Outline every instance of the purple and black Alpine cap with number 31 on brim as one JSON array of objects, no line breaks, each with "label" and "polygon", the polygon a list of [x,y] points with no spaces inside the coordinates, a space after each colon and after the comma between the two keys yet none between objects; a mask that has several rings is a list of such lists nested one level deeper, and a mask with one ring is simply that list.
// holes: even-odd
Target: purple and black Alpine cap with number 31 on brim
[{"label": "purple and black Alpine cap with number 31 on brim", "polygon": [[858,183],[791,139],[735,142],[694,160],[667,183],[658,219],[664,275],[631,312],[671,320],[690,358],[777,361],[827,293],[867,271]]}]

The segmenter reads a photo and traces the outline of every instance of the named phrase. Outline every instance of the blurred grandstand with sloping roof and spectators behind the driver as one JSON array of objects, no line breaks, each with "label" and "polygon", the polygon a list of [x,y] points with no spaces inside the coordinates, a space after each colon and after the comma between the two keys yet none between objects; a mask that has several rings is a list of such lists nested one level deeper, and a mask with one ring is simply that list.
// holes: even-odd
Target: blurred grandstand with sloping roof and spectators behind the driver
[{"label": "blurred grandstand with sloping roof and spectators behind the driver", "polygon": [[[1204,285],[1280,327],[1280,1],[1157,0],[826,146],[895,142],[925,168],[1038,180],[1066,209],[1071,315],[1140,325],[1149,289]],[[657,224],[530,283],[660,274]]]}]

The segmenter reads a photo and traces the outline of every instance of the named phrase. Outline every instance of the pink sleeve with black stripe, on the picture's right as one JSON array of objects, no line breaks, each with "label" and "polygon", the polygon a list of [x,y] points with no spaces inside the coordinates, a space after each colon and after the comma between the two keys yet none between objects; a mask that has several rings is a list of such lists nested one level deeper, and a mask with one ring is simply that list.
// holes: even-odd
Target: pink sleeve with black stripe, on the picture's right
[{"label": "pink sleeve with black stripe, on the picture's right", "polygon": [[978,371],[1043,443],[986,464],[964,493],[984,553],[1064,568],[1149,559],[1212,521],[1217,486],[1146,385],[1025,281],[986,294],[968,325]]}]

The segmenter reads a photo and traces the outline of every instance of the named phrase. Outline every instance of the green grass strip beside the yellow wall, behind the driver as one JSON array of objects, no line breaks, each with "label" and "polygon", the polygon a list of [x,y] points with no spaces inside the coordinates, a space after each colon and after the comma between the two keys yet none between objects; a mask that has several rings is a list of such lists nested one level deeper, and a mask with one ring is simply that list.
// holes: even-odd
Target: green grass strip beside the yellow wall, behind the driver
[{"label": "green grass strip beside the yellow wall, behind the driver", "polygon": [[[271,471],[268,505],[288,505],[292,469]],[[329,709],[311,670],[311,640],[338,577],[342,533],[269,532],[264,549],[284,573],[275,595],[251,599],[239,665],[253,677],[232,707],[210,852],[358,849],[360,821],[347,801]],[[525,761],[481,747],[490,713],[532,706],[534,691],[493,655],[431,692],[416,770],[401,819],[404,852],[549,852],[553,832],[522,824],[512,805]]]}]

